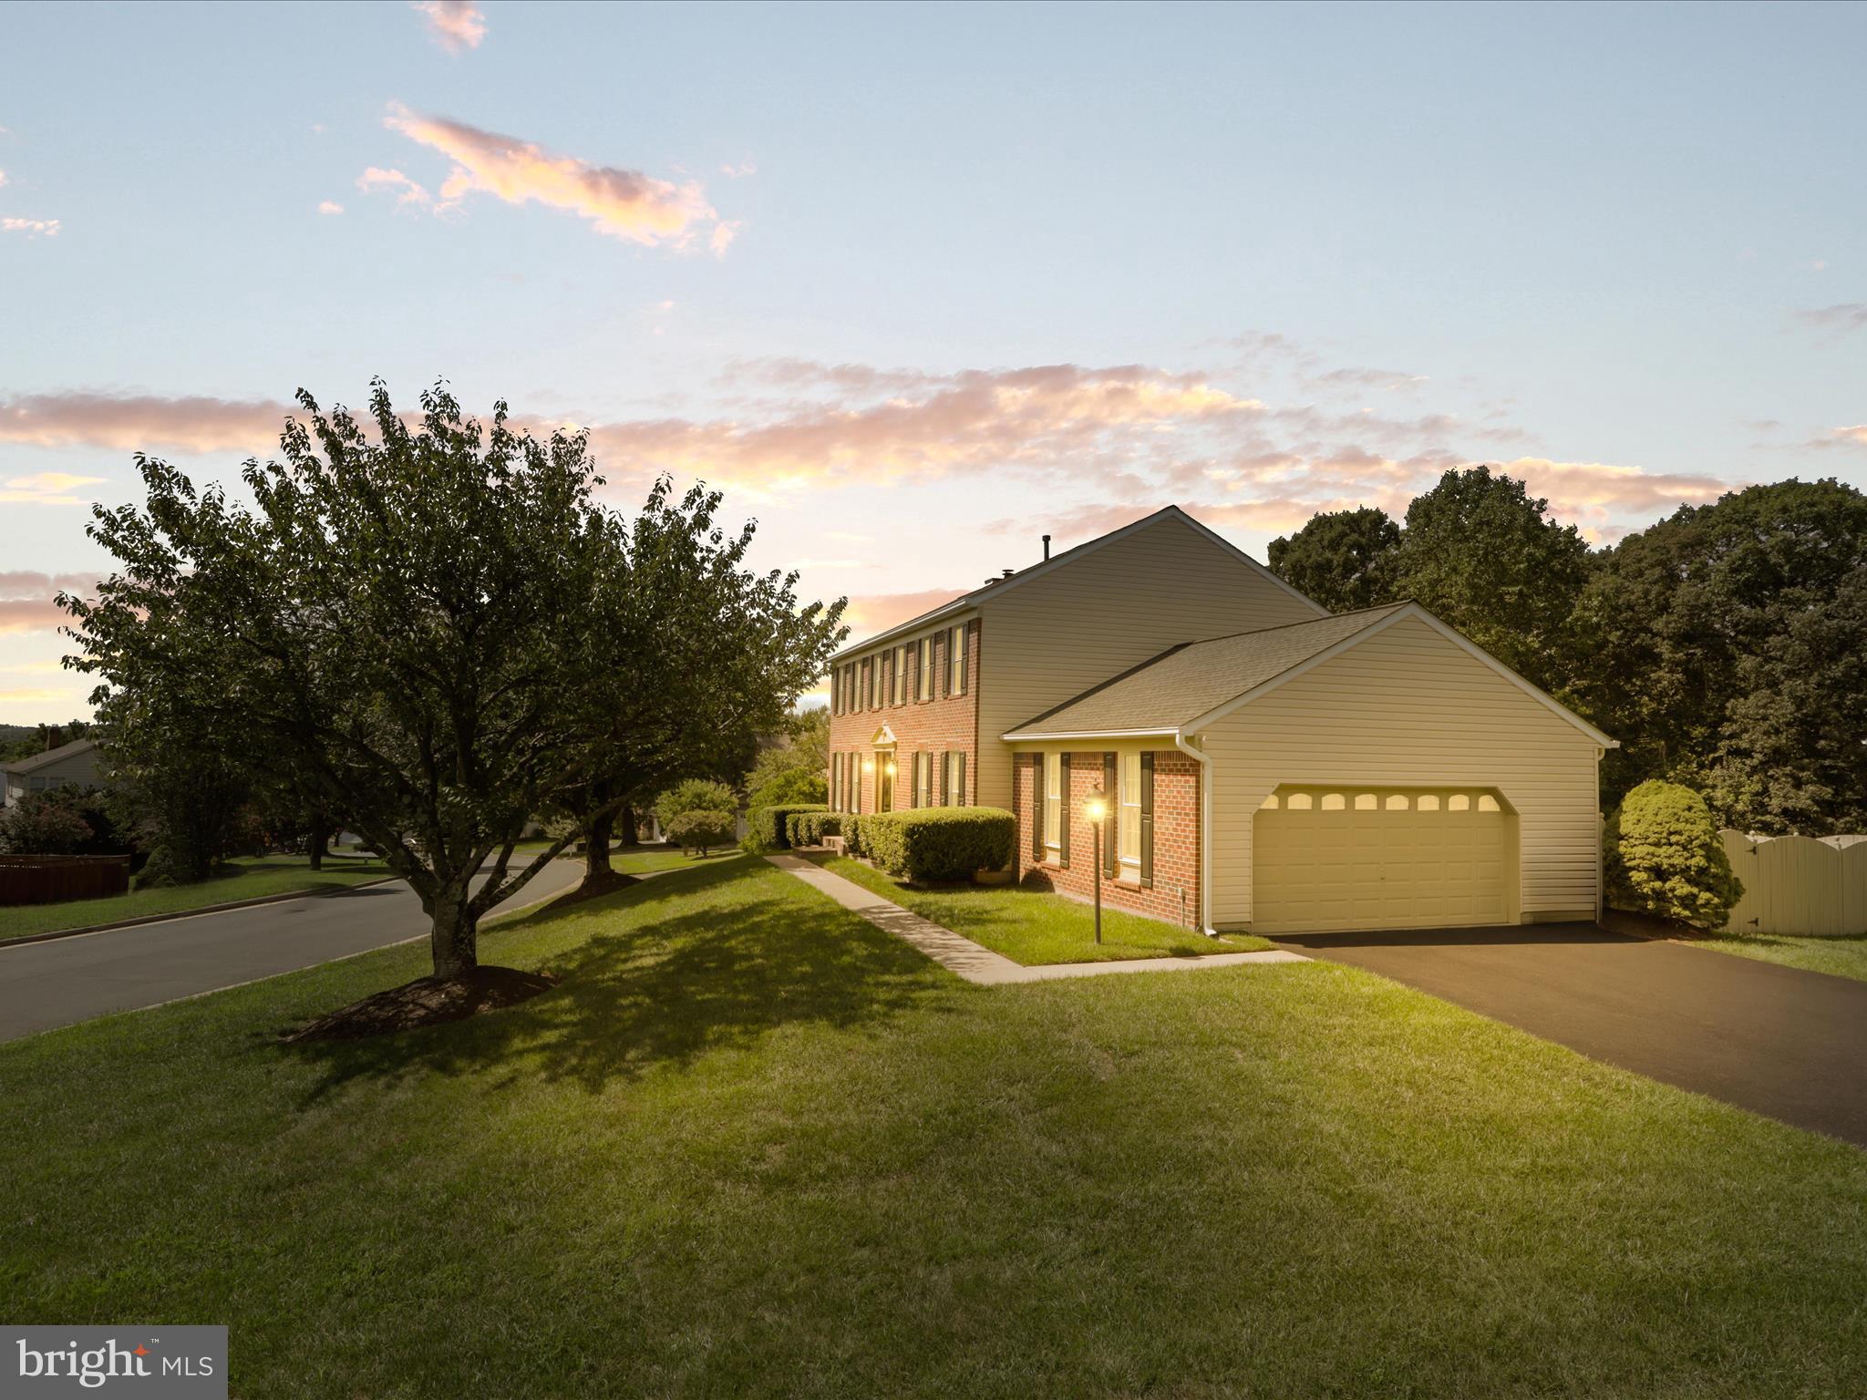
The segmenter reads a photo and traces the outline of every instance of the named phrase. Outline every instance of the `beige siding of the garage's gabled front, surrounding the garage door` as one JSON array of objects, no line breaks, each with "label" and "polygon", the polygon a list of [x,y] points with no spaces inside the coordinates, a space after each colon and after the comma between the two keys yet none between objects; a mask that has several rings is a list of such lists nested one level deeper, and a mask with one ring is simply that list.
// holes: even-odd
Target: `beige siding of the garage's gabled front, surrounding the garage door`
[{"label": "beige siding of the garage's gabled front, surrounding the garage door", "polygon": [[1495,788],[1518,818],[1523,920],[1593,918],[1594,741],[1419,620],[1398,622],[1195,737],[1212,756],[1212,918],[1253,917],[1251,831],[1279,784]]}]

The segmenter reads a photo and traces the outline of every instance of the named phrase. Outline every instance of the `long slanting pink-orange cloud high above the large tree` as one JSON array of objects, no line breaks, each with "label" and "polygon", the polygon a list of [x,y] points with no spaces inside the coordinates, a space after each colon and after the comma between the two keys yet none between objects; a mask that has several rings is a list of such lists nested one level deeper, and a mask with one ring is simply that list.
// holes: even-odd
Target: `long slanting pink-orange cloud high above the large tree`
[{"label": "long slanting pink-orange cloud high above the large tree", "polygon": [[543,203],[588,218],[607,237],[650,248],[687,246],[700,228],[711,226],[708,246],[724,252],[737,230],[737,224],[721,222],[696,181],[674,185],[639,170],[592,166],[517,136],[416,116],[400,103],[390,106],[383,125],[454,162],[437,207],[454,207],[469,194]]}]

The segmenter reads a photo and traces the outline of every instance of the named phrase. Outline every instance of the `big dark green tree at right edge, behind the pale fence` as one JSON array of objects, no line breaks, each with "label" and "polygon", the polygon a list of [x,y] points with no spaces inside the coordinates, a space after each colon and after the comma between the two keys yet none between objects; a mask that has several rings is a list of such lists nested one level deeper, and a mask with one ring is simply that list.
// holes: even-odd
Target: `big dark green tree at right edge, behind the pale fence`
[{"label": "big dark green tree at right edge, behind the pale fence", "polygon": [[1867,497],[1776,482],[1686,506],[1606,554],[1576,607],[1566,694],[1641,778],[1705,788],[1725,823],[1867,823]]}]

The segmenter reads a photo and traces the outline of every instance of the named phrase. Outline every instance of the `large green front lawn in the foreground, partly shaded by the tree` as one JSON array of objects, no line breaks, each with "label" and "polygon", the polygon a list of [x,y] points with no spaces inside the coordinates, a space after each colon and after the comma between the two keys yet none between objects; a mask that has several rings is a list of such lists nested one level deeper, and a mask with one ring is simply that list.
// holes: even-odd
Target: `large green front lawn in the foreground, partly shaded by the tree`
[{"label": "large green front lawn in the foreground, partly shaded by the tree", "polygon": [[235,1394],[1867,1393],[1867,1154],[1329,963],[971,987],[749,859],[0,1045],[15,1322]]}]

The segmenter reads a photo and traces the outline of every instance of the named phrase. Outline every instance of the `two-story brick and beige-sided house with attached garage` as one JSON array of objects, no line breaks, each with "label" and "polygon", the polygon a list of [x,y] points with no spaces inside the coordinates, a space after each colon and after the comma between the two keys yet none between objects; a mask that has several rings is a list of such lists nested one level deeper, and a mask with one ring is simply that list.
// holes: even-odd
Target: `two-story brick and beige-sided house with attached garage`
[{"label": "two-story brick and beige-sided house with attached garage", "polygon": [[[1046,536],[1046,554],[1047,554]],[[1331,614],[1169,506],[849,646],[831,805],[1018,818],[1016,875],[1268,933],[1593,918],[1613,739],[1415,603]]]}]

